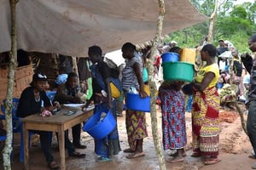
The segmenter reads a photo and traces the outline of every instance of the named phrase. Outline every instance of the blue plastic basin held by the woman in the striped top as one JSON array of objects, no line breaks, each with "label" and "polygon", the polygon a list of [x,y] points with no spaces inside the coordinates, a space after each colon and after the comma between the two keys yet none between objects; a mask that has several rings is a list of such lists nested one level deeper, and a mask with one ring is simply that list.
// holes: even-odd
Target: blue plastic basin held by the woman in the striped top
[{"label": "blue plastic basin held by the woman in the striped top", "polygon": [[141,98],[139,94],[127,94],[126,108],[133,111],[150,112],[150,97]]}]

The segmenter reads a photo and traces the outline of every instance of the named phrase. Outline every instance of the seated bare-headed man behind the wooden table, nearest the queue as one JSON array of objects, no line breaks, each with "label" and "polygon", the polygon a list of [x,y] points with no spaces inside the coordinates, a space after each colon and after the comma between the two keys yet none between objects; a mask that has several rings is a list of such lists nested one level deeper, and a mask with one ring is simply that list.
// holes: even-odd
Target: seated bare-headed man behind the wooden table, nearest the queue
[{"label": "seated bare-headed man behind the wooden table, nearest the queue", "polygon": [[[79,104],[82,103],[80,88],[78,85],[78,75],[75,72],[70,72],[67,75],[67,82],[59,85],[55,94],[55,101],[63,104]],[[72,127],[73,146],[78,149],[85,149],[86,146],[80,143],[81,140],[81,123]],[[68,131],[65,132],[68,137]]]}]

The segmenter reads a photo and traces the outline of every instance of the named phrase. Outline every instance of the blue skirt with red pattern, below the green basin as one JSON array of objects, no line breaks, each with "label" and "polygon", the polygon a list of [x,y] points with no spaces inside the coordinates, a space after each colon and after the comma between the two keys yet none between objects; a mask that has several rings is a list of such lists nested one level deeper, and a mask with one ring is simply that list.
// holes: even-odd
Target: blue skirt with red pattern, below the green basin
[{"label": "blue skirt with red pattern, below the green basin", "polygon": [[187,144],[184,97],[180,91],[159,91],[164,150],[182,149]]}]

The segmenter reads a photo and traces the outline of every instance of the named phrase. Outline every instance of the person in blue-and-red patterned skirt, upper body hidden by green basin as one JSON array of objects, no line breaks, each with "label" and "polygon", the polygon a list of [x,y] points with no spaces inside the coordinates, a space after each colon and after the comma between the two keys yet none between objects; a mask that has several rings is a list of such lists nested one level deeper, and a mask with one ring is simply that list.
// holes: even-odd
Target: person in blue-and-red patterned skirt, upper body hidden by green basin
[{"label": "person in blue-and-red patterned skirt, upper body hidden by green basin", "polygon": [[163,82],[159,88],[162,112],[162,132],[164,150],[177,150],[172,154],[174,163],[183,161],[186,156],[184,146],[187,144],[185,101],[181,87],[183,82]]}]

